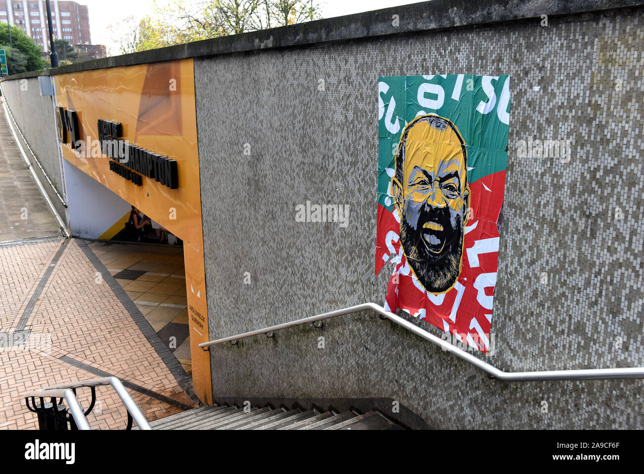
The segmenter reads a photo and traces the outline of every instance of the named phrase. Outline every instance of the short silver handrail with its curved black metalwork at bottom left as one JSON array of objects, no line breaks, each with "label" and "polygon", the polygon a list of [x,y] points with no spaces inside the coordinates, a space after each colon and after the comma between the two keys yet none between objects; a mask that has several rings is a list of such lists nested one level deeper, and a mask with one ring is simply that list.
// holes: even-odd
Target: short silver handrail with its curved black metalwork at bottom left
[{"label": "short silver handrail with its curved black metalwork at bottom left", "polygon": [[[94,408],[96,403],[96,387],[100,385],[111,385],[117,392],[118,397],[123,402],[126,410],[128,410],[128,426],[126,430],[131,430],[132,422],[135,421],[140,430],[151,430],[150,424],[147,422],[146,417],[138,409],[137,404],[129,395],[128,390],[123,386],[118,377],[102,377],[99,379],[83,380],[79,382],[63,383],[44,388],[42,390],[32,390],[32,392],[24,393],[24,401],[30,411],[39,413],[39,415],[51,416],[64,423],[69,422],[72,429],[77,430],[91,430],[90,424],[87,421],[87,415]],[[78,388],[91,388],[91,403],[90,407],[83,411],[81,404],[76,398],[76,390]],[[40,406],[37,406],[35,399],[40,399]],[[46,413],[46,404],[44,399],[49,398],[52,403],[52,411]],[[29,400],[31,399],[31,405]],[[61,413],[59,410],[57,399],[64,399],[69,407],[71,417],[66,413]],[[39,416],[40,419],[40,416]],[[41,426],[43,429],[43,426]]]}]

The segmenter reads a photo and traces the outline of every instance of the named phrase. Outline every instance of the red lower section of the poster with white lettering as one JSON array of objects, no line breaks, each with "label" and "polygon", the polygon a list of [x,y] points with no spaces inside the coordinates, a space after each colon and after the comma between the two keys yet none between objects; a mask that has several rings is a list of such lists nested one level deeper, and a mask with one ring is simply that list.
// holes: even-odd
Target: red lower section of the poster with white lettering
[{"label": "red lower section of the poster with white lettering", "polygon": [[498,215],[504,198],[506,172],[470,184],[471,214],[464,229],[462,269],[455,285],[443,294],[426,292],[401,251],[397,211],[378,206],[375,272],[386,261],[395,265],[386,308],[413,316],[450,333],[459,341],[488,352],[494,288],[497,282]]}]

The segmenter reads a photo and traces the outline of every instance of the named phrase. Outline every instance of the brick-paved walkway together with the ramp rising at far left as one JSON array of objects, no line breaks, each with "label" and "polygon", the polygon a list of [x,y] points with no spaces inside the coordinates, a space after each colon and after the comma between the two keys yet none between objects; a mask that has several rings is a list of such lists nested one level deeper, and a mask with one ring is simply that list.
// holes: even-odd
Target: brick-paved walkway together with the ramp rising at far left
[{"label": "brick-paved walkway together with the ramp rising at far left", "polygon": [[[37,428],[21,393],[106,375],[124,381],[149,420],[196,406],[190,376],[90,245],[57,231],[11,141],[0,120],[0,240],[18,241],[0,245],[0,428]],[[19,206],[32,220],[11,229]],[[29,237],[50,238],[22,241]],[[83,406],[89,397],[79,390]],[[97,400],[90,426],[123,429],[127,413],[115,392],[99,387]]]}]

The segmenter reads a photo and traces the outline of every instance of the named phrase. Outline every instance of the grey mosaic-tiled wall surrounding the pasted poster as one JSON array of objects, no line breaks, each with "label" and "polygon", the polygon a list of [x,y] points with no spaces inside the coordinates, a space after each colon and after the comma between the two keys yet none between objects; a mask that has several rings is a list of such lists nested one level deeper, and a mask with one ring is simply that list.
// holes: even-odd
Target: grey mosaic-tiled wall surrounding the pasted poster
[{"label": "grey mosaic-tiled wall surrounding the pasted poster", "polygon": [[[50,73],[194,57],[210,339],[383,303],[378,77],[509,74],[493,350],[478,356],[508,372],[643,366],[643,12],[435,0]],[[571,156],[522,157],[536,139],[570,140]],[[346,227],[296,222],[307,201],[348,205]],[[398,401],[433,428],[644,428],[641,380],[504,383],[368,312],[216,345],[211,374],[215,401]]]}]

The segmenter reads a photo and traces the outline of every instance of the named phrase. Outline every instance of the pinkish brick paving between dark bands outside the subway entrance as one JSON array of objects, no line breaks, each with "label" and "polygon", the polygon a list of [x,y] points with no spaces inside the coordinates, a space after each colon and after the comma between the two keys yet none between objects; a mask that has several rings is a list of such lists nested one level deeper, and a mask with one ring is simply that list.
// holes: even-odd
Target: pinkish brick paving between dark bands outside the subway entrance
[{"label": "pinkish brick paving between dark bands outside the subway entrance", "polygon": [[[0,248],[0,285],[3,311],[0,312],[2,332],[11,332],[20,319],[33,290],[50,265],[53,254],[61,245],[47,242]],[[28,264],[25,264],[28,262]],[[26,269],[31,269],[32,274]],[[8,278],[4,278],[7,276]],[[21,280],[24,278],[24,280]],[[21,284],[16,285],[16,283]],[[5,307],[8,302],[8,307]],[[50,346],[30,350],[0,348],[0,428],[36,428],[36,415],[24,406],[21,393],[53,384],[95,378],[96,375],[60,360],[67,355],[121,379],[166,395],[182,403],[196,406],[180,387],[162,359],[137,327],[128,311],[97,275],[95,267],[75,240],[66,246],[36,301],[26,324],[33,340],[50,337]],[[179,408],[129,391],[149,420],[176,412]],[[79,392],[79,401],[88,406],[90,390]],[[88,417],[93,429],[122,429],[127,423],[120,399],[109,387],[97,390],[100,404]]]}]

